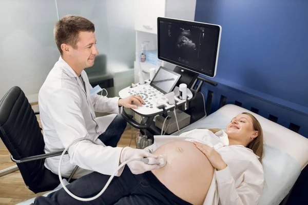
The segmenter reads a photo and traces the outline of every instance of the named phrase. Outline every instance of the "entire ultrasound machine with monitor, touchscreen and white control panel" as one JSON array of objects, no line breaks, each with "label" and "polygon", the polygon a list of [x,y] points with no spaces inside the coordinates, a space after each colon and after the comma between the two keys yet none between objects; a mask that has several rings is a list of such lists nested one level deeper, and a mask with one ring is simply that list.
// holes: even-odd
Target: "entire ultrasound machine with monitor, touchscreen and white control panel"
[{"label": "entire ultrasound machine with monitor, touchscreen and white control panel", "polygon": [[153,135],[180,132],[206,116],[200,87],[203,82],[217,85],[199,74],[216,75],[221,26],[164,17],[158,17],[157,24],[158,58],[175,65],[175,69],[161,66],[152,79],[144,80],[137,58],[140,82],[119,92],[121,98],[140,95],[145,102],[132,109],[141,116],[140,121],[124,109],[122,112],[130,125],[140,129],[138,148],[151,145]]}]

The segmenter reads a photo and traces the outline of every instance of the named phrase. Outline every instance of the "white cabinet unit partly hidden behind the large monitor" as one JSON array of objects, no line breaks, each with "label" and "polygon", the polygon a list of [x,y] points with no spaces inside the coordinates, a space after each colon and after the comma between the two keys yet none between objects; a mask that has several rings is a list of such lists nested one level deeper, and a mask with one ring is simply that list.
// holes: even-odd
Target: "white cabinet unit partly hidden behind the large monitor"
[{"label": "white cabinet unit partly hidden behind the large monitor", "polygon": [[[140,54],[141,44],[147,42],[147,50],[157,50],[157,17],[194,20],[196,0],[135,0],[136,52]],[[161,65],[162,64],[162,65]],[[139,82],[138,63],[134,62],[134,81]],[[167,62],[157,64],[141,63],[144,78],[149,78],[149,68],[172,67]]]}]

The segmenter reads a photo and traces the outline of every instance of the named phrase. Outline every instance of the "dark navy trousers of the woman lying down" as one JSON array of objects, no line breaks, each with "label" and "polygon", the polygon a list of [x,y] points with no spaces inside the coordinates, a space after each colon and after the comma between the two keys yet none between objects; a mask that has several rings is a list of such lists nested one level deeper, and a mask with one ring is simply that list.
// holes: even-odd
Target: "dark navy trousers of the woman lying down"
[{"label": "dark navy trousers of the woman lying down", "polygon": [[[104,188],[109,177],[93,172],[73,181],[66,187],[79,197],[89,198],[97,195]],[[64,189],[60,189],[47,197],[36,197],[34,205],[37,204],[191,205],[169,191],[152,172],[134,175],[127,166],[121,176],[114,177],[105,192],[95,200],[79,201],[68,195]]]}]

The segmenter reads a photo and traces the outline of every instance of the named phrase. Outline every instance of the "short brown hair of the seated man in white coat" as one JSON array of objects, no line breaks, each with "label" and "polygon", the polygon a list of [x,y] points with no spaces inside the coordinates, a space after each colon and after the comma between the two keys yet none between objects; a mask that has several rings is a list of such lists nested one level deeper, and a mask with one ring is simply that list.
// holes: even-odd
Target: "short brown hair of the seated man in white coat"
[{"label": "short brown hair of the seated man in white coat", "polygon": [[62,55],[62,44],[67,44],[76,48],[79,40],[79,32],[94,32],[95,27],[90,20],[76,15],[66,15],[62,17],[54,26],[53,35],[55,44]]}]

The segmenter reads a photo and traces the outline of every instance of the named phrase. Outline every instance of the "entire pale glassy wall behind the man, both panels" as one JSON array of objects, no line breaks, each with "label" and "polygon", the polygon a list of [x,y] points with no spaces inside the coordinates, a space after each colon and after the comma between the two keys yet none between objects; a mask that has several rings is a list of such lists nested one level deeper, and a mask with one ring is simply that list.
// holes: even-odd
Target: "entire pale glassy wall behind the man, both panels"
[{"label": "entire pale glassy wall behind the man, both panels", "polygon": [[[133,67],[134,4],[127,0],[57,0],[60,18],[81,15],[95,25],[97,47],[107,55],[108,72]],[[57,21],[54,0],[1,0],[0,99],[19,86],[30,101],[60,53],[53,39]]]}]

